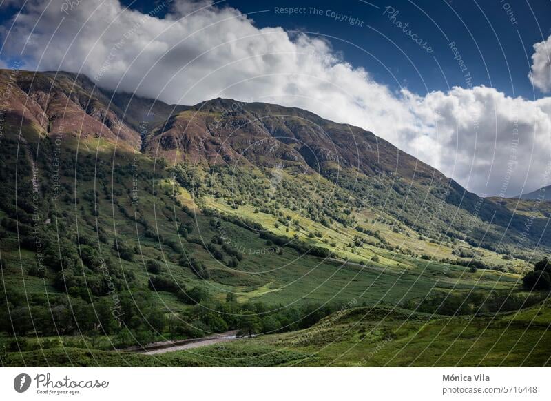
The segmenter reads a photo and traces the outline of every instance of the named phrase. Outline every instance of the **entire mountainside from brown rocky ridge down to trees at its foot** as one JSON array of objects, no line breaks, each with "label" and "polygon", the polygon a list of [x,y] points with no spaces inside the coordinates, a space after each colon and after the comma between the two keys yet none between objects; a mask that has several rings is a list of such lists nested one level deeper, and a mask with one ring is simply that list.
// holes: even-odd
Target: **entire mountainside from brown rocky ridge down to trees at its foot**
[{"label": "entire mountainside from brown rocky ridge down to trees at its foot", "polygon": [[2,363],[297,331],[344,305],[431,319],[543,299],[519,282],[551,249],[548,209],[479,198],[360,127],[66,72],[1,70],[0,96]]}]

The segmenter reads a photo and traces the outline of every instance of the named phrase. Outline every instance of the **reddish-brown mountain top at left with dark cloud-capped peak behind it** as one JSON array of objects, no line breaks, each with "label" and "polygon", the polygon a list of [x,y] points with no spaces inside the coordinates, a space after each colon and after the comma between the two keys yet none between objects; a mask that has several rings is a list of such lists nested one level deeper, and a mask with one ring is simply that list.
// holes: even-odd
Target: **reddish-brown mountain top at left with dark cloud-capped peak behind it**
[{"label": "reddish-brown mountain top at left with dark cloud-capped peak behind it", "polygon": [[[12,85],[15,83],[16,85]],[[167,105],[97,87],[83,74],[0,70],[10,86],[10,124],[23,122],[48,136],[89,136],[139,149],[141,136],[186,106]]]}]

